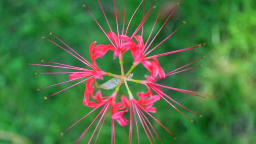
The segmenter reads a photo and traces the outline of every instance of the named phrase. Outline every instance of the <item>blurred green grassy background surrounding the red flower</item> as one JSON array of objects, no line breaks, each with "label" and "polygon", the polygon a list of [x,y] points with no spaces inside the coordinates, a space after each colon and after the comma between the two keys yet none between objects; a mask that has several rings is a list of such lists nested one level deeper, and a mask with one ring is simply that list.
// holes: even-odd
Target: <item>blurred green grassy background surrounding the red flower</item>
[{"label": "blurred green grassy background surrounding the red flower", "polygon": [[[146,0],[149,9],[153,0]],[[156,9],[144,26],[146,41],[161,6],[156,1]],[[167,73],[192,62],[202,56],[205,59],[191,65],[204,67],[186,71],[159,80],[162,85],[202,92],[218,99],[202,99],[169,89],[163,91],[192,111],[201,114],[200,118],[182,107],[179,110],[194,120],[190,123],[163,99],[155,103],[159,121],[173,132],[177,140],[153,119],[150,119],[164,144],[255,144],[256,143],[256,1],[255,0],[165,0],[153,36],[164,23],[176,3],[180,5],[159,33],[153,46],[171,34],[182,21],[183,25],[170,39],[150,55],[188,48],[207,43],[206,46],[159,57],[159,63]],[[127,19],[137,8],[140,0],[127,1]],[[55,83],[68,80],[68,74],[35,75],[40,72],[62,72],[60,68],[25,65],[41,64],[41,60],[54,61],[77,67],[86,67],[54,44],[41,39],[42,36],[58,42],[52,32],[71,48],[90,61],[89,45],[109,44],[95,21],[82,4],[91,10],[106,32],[106,20],[97,1],[86,0],[1,0],[0,1],[0,143],[1,144],[72,144],[97,116],[95,111],[76,126],[63,132],[69,126],[92,110],[82,103],[85,82],[60,94],[49,96],[75,82],[65,83],[37,91]],[[113,1],[103,1],[103,8],[116,32]],[[116,1],[119,27],[122,27],[124,0]],[[131,36],[142,19],[142,7],[131,22],[128,36]],[[104,71],[120,74],[118,59],[113,60],[113,52],[108,52],[97,63]],[[130,52],[125,53],[125,71],[132,65]],[[133,71],[134,79],[144,79],[149,74],[139,65]],[[99,83],[110,79],[104,77]],[[77,81],[79,82],[79,81]],[[146,91],[143,85],[129,83],[134,95]],[[97,90],[97,89],[96,89]],[[110,95],[113,90],[102,90]],[[127,94],[125,86],[120,94]],[[129,117],[126,114],[125,117]],[[129,118],[128,118],[129,119]],[[110,115],[107,116],[97,143],[111,142]],[[81,143],[88,143],[96,124],[89,129]],[[128,143],[129,125],[121,127],[116,123],[116,143]],[[149,143],[140,125],[140,141]],[[135,125],[134,125],[135,130]],[[137,143],[134,131],[133,143]]]}]

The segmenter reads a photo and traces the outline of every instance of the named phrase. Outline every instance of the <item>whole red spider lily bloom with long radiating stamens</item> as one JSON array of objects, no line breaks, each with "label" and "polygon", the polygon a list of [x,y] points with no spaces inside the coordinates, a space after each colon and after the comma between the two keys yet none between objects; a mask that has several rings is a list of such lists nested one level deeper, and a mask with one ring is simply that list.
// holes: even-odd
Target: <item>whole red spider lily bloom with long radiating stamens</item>
[{"label": "whole red spider lily bloom with long radiating stamens", "polygon": [[[177,111],[179,111],[183,116],[185,116],[187,119],[189,119],[185,114],[183,114],[178,108],[176,108],[170,101],[168,101],[168,99],[170,99],[171,101],[175,102],[176,104],[180,105],[181,107],[185,108],[186,110],[190,111],[193,114],[196,114],[199,117],[202,117],[201,115],[189,110],[188,108],[184,107],[183,105],[179,104],[177,101],[175,101],[174,99],[172,99],[170,96],[168,96],[167,94],[165,94],[161,88],[167,88],[167,89],[171,89],[171,90],[175,90],[175,91],[179,91],[179,92],[183,92],[186,94],[190,94],[190,95],[195,95],[195,96],[199,96],[202,98],[207,98],[205,96],[210,96],[210,95],[205,95],[205,94],[201,94],[198,92],[193,92],[193,91],[188,91],[188,90],[184,90],[184,89],[178,89],[178,88],[173,88],[170,86],[164,86],[164,85],[160,85],[155,83],[155,81],[157,79],[165,79],[165,77],[167,76],[171,76],[173,74],[176,73],[180,73],[182,71],[186,71],[186,70],[191,70],[193,68],[197,68],[197,67],[201,67],[202,65],[196,66],[196,67],[191,67],[191,68],[187,68],[185,70],[180,70],[184,67],[187,67],[188,65],[191,65],[199,60],[201,60],[202,57],[196,61],[193,61],[187,65],[184,65],[183,67],[177,68],[176,70],[173,70],[169,73],[165,73],[164,70],[162,69],[162,67],[159,65],[158,59],[157,57],[159,56],[164,56],[164,55],[169,55],[169,54],[173,54],[173,53],[177,53],[177,52],[182,52],[185,50],[189,50],[189,49],[194,49],[194,48],[198,48],[200,46],[205,45],[204,44],[200,44],[197,46],[193,46],[190,48],[186,48],[186,49],[180,49],[180,50],[175,50],[172,52],[166,52],[166,53],[161,53],[161,54],[157,54],[157,55],[153,55],[153,56],[148,56],[147,55],[149,53],[151,53],[154,49],[158,48],[163,42],[165,42],[169,37],[171,37],[180,27],[182,27],[183,24],[186,24],[185,22],[183,22],[180,27],[178,27],[173,33],[171,33],[166,39],[164,39],[162,42],[160,42],[158,45],[156,45],[155,47],[153,47],[152,49],[149,50],[149,48],[151,48],[151,45],[153,43],[153,41],[155,40],[156,36],[158,36],[159,32],[162,30],[162,28],[164,27],[164,25],[166,24],[166,22],[168,21],[168,19],[170,18],[170,16],[172,15],[172,13],[174,12],[174,10],[176,9],[176,7],[178,6],[178,4],[176,5],[176,7],[173,9],[173,11],[170,13],[170,15],[168,16],[167,20],[164,22],[164,24],[162,25],[162,27],[159,29],[159,31],[156,33],[156,35],[153,37],[153,39],[150,41],[150,37],[153,33],[153,30],[155,28],[156,22],[158,20],[159,14],[161,12],[162,6],[164,4],[164,0],[162,1],[161,7],[159,9],[158,15],[156,17],[156,21],[153,25],[153,28],[149,34],[149,37],[146,41],[146,43],[144,43],[143,41],[143,26],[145,24],[145,22],[147,21],[147,19],[149,18],[149,16],[151,15],[151,13],[153,12],[153,10],[155,9],[156,6],[154,6],[154,4],[156,3],[156,1],[153,2],[152,6],[149,8],[149,10],[147,12],[145,12],[145,0],[142,0],[140,5],[138,6],[138,8],[143,5],[143,16],[142,16],[142,21],[140,22],[140,24],[138,25],[138,27],[136,28],[136,30],[134,31],[134,33],[131,36],[127,36],[127,31],[129,28],[129,25],[131,23],[132,17],[135,15],[135,13],[137,12],[138,8],[135,10],[134,14],[132,15],[125,34],[124,34],[124,30],[125,30],[125,13],[126,13],[126,1],[125,1],[125,7],[124,7],[124,21],[123,21],[123,27],[122,27],[122,34],[119,34],[119,27],[118,27],[118,17],[117,17],[117,13],[116,13],[116,4],[115,4],[115,0],[113,0],[114,2],[114,7],[115,7],[115,15],[116,15],[116,25],[117,25],[117,35],[113,32],[112,28],[110,27],[109,21],[107,19],[107,16],[103,10],[103,7],[101,6],[100,1],[98,0],[98,3],[100,5],[100,8],[103,12],[104,17],[106,18],[107,24],[109,26],[110,32],[106,33],[104,31],[104,29],[101,27],[101,25],[98,23],[98,21],[94,18],[94,16],[92,15],[92,13],[89,11],[89,9],[83,5],[85,7],[85,9],[90,13],[90,15],[92,16],[92,18],[95,20],[95,22],[98,24],[98,26],[101,28],[101,30],[103,31],[103,33],[106,35],[106,37],[110,40],[110,43],[112,45],[96,45],[96,42],[92,42],[92,44],[89,47],[89,54],[91,57],[91,61],[92,64],[90,62],[88,62],[85,58],[83,58],[81,55],[79,55],[77,52],[75,52],[72,48],[70,48],[68,45],[66,45],[62,40],[60,40],[57,36],[53,35],[52,33],[50,33],[50,35],[54,36],[55,38],[57,38],[61,43],[63,43],[65,46],[67,46],[68,49],[70,49],[72,52],[66,50],[65,48],[61,47],[60,45],[58,45],[57,43],[43,37],[43,39],[48,40],[49,42],[54,43],[55,45],[57,45],[58,47],[60,47],[61,49],[65,50],[66,52],[68,52],[70,55],[74,56],[75,58],[77,58],[79,61],[83,62],[85,65],[87,65],[88,67],[90,67],[90,69],[85,69],[85,68],[79,68],[79,67],[74,67],[71,65],[65,65],[65,64],[60,64],[60,63],[56,63],[56,62],[49,62],[49,61],[43,61],[42,62],[48,62],[51,64],[55,64],[55,65],[42,65],[42,64],[30,64],[30,65],[40,65],[40,66],[48,66],[48,67],[57,67],[57,68],[67,68],[67,69],[73,69],[73,70],[79,70],[76,72],[62,72],[62,73],[36,73],[36,74],[66,74],[66,73],[70,73],[70,75],[68,76],[69,80],[62,82],[62,83],[66,83],[66,82],[70,82],[73,80],[77,80],[77,79],[83,79],[82,81],[72,85],[75,86],[79,83],[85,82],[85,92],[84,92],[84,99],[83,99],[83,104],[86,107],[91,107],[94,108],[91,112],[89,112],[88,114],[86,114],[84,117],[82,117],[82,119],[84,119],[85,117],[87,117],[89,114],[91,114],[93,111],[95,111],[96,109],[103,107],[100,111],[100,113],[97,115],[97,117],[93,120],[93,122],[91,123],[91,125],[88,126],[88,128],[82,133],[82,135],[77,139],[77,141],[75,143],[79,143],[80,140],[82,139],[82,137],[86,134],[86,132],[88,131],[88,129],[92,126],[92,124],[100,117],[100,120],[89,140],[88,143],[91,143],[92,138],[94,137],[94,134],[96,132],[96,130],[98,129],[98,126],[101,123],[100,126],[100,130],[97,134],[97,137],[95,139],[95,143],[99,137],[101,128],[103,126],[103,123],[106,119],[106,116],[111,108],[111,115],[112,115],[112,143],[115,143],[115,122],[114,120],[116,120],[119,125],[121,126],[125,126],[128,125],[128,123],[130,123],[129,125],[129,144],[132,143],[132,132],[133,132],[133,125],[134,125],[134,120],[135,120],[135,125],[136,125],[136,130],[137,130],[137,137],[138,137],[138,143],[140,143],[140,138],[139,138],[139,128],[138,128],[138,121],[140,121],[147,138],[149,139],[150,143],[156,143],[155,137],[153,135],[153,133],[156,135],[156,137],[158,138],[159,142],[161,143],[161,140],[159,138],[159,135],[157,134],[156,130],[153,128],[152,124],[150,123],[149,119],[147,119],[145,113],[147,115],[149,115],[150,117],[152,117],[152,119],[154,119],[157,123],[159,123],[159,125],[161,125],[171,136],[173,136],[174,139],[176,139],[176,137],[174,137],[174,135],[164,126],[162,125],[161,122],[159,122],[155,117],[152,116],[152,114],[150,113],[155,113],[156,112],[156,108],[153,107],[153,104],[157,101],[159,101],[160,99],[164,99],[166,102],[168,102],[168,104],[170,104],[173,108],[175,108]],[[146,13],[146,14],[145,14]],[[141,30],[141,35],[137,35],[138,31]],[[133,40],[133,38],[135,39],[135,41]],[[149,44],[148,44],[149,43]],[[121,75],[119,74],[112,74],[112,73],[107,73],[105,71],[102,71],[100,69],[100,67],[98,67],[97,63],[95,62],[96,59],[98,58],[102,58],[108,51],[113,51],[113,57],[114,58],[119,58],[119,63],[120,63],[120,67],[121,67]],[[147,52],[147,50],[149,50]],[[124,61],[123,61],[123,55],[125,52],[130,51],[132,54],[132,58],[134,59],[133,61],[133,65],[131,66],[130,70],[125,73],[124,71]],[[76,55],[75,55],[75,54]],[[150,72],[150,76],[146,76],[146,80],[135,80],[132,79],[131,77],[128,77],[132,70],[134,70],[135,67],[137,67],[137,65],[142,64],[149,72]],[[61,66],[58,66],[61,65]],[[180,71],[179,71],[180,70]],[[115,77],[115,79],[120,79],[119,80],[119,84],[115,85],[115,91],[113,91],[113,94],[110,96],[103,96],[103,94],[101,93],[101,91],[97,91],[94,92],[94,86],[100,88],[96,82],[97,79],[103,79],[103,76],[112,76]],[[135,83],[140,83],[144,86],[146,86],[146,88],[148,89],[148,91],[146,93],[143,92],[139,92],[137,94],[138,99],[134,98],[133,93],[130,91],[129,86],[127,81],[131,81],[131,82],[135,82]],[[58,83],[55,85],[59,85],[62,83]],[[116,96],[119,92],[119,88],[122,85],[122,83],[125,84],[125,87],[127,88],[127,92],[128,92],[128,96],[129,99],[127,98],[127,96],[122,95],[121,96],[121,101],[120,102],[116,102]],[[111,84],[111,81],[110,81]],[[52,85],[52,86],[55,86]],[[114,85],[114,84],[113,84]],[[69,86],[68,88],[71,88],[72,86]],[[45,88],[48,88],[51,86],[47,86]],[[55,94],[58,94],[68,88],[65,88]],[[44,88],[41,88],[44,89]],[[40,90],[40,89],[38,89]],[[153,92],[156,93],[156,95],[153,95]],[[46,99],[55,95],[52,94],[48,97],[45,97]],[[202,96],[204,95],[204,96]],[[214,96],[210,96],[212,98],[216,98]],[[130,112],[129,116],[129,120],[127,120],[124,117],[125,113]],[[78,122],[80,122],[82,119],[78,120],[76,123],[74,123],[71,127],[73,127],[74,125],[76,125]],[[193,122],[193,120],[189,119],[191,122]],[[68,129],[70,129],[68,128]],[[67,130],[68,130],[67,129]],[[151,129],[153,130],[153,132],[151,131]],[[67,130],[65,130],[64,132],[66,132]],[[63,135],[63,133],[61,133],[61,135]]]}]

